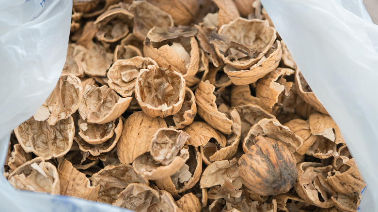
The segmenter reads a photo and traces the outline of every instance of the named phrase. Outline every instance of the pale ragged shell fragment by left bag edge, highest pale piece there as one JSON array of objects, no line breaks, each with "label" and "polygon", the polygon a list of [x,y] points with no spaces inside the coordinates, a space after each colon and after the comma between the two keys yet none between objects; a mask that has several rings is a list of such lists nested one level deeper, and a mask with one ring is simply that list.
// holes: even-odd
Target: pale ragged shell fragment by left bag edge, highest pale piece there
[{"label": "pale ragged shell fragment by left bag edge, highest pale piece there", "polygon": [[72,74],[75,76],[84,76],[84,71],[79,69],[77,61],[81,61],[84,52],[87,51],[82,45],[77,45],[75,43],[68,44],[67,57],[63,66],[63,74]]}]

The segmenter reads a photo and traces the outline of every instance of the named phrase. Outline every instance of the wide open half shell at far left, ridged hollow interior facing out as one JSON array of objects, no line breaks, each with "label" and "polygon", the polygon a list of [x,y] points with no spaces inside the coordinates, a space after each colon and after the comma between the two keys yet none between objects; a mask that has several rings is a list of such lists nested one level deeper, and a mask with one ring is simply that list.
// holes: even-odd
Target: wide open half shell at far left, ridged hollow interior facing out
[{"label": "wide open half shell at far left, ridged hollow interior facing out", "polygon": [[25,152],[33,152],[45,160],[62,157],[74,140],[74,120],[70,116],[51,126],[47,121],[35,121],[31,117],[15,128],[15,134]]}]

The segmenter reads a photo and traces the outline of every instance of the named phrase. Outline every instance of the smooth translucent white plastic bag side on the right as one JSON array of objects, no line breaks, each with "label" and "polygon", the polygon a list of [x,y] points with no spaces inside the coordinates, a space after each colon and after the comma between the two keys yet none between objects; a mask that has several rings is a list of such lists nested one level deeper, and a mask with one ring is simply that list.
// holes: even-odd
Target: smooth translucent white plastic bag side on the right
[{"label": "smooth translucent white plastic bag side on the right", "polygon": [[367,184],[360,210],[378,211],[378,26],[362,0],[261,2],[356,159]]}]

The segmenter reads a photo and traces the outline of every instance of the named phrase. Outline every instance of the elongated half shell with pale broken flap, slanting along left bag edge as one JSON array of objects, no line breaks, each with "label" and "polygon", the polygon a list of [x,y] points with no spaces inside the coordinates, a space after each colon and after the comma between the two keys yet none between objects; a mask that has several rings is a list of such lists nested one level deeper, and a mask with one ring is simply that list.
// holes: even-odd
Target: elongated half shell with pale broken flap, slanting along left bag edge
[{"label": "elongated half shell with pale broken flap, slanting along left bag edge", "polygon": [[[78,77],[62,74],[55,89],[34,114],[34,119],[36,121],[47,120],[50,125],[56,124],[59,120],[67,119],[79,108],[83,99],[82,93],[83,88]],[[64,99],[62,99],[62,96],[64,96]]]}]

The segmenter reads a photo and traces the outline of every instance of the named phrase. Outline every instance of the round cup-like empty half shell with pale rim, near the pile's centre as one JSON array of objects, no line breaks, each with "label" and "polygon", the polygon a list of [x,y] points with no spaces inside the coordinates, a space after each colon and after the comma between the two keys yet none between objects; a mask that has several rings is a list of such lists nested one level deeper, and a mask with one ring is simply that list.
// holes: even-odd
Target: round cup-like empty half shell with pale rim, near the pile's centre
[{"label": "round cup-like empty half shell with pale rim, near the pile's centre", "polygon": [[185,97],[185,80],[170,67],[155,65],[142,69],[135,85],[135,98],[150,117],[167,117],[180,111]]}]

